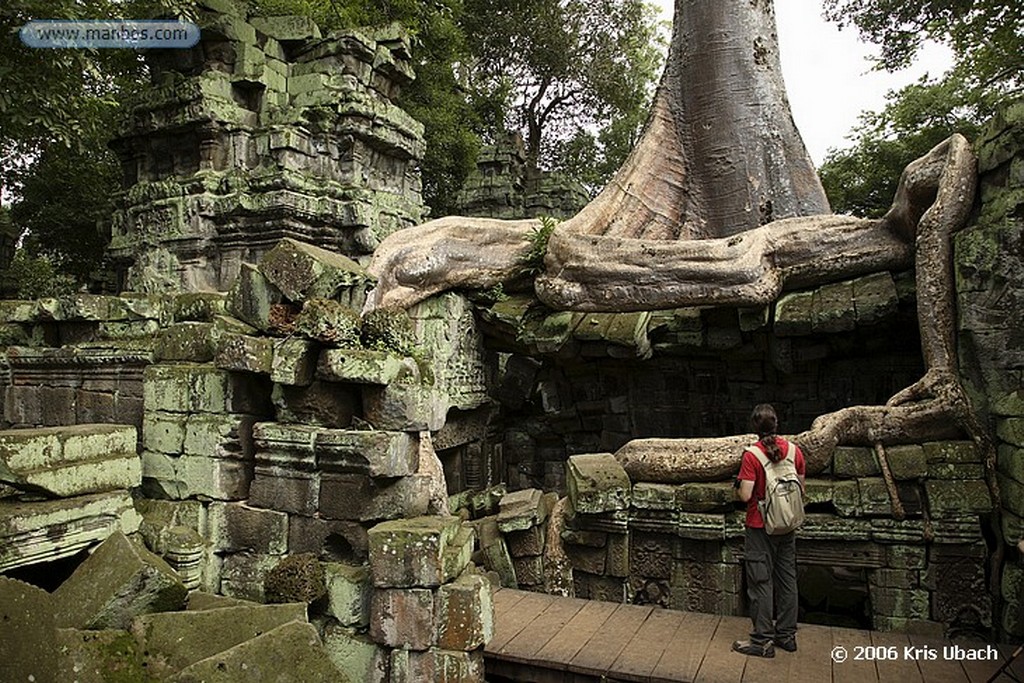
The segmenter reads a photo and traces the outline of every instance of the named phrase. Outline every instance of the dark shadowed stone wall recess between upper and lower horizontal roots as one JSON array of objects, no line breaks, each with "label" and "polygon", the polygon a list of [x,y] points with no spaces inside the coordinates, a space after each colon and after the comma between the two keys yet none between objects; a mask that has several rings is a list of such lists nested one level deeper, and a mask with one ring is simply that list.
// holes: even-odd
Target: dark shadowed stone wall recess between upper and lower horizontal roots
[{"label": "dark shadowed stone wall recess between upper and lower horizontal roots", "polygon": [[909,273],[797,291],[761,309],[569,313],[510,298],[481,310],[499,352],[512,487],[561,488],[563,463],[633,438],[748,431],[771,402],[796,433],[828,411],[878,404],[923,374]]}]

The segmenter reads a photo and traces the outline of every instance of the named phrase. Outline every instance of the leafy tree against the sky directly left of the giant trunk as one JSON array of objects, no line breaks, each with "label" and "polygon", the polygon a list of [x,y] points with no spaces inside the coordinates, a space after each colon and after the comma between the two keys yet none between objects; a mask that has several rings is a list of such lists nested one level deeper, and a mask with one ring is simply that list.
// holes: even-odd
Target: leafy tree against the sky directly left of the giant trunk
[{"label": "leafy tree against the sky directly left of the giant trunk", "polygon": [[590,186],[606,179],[603,160],[617,168],[632,146],[660,69],[656,9],[643,0],[466,0],[463,24],[492,134],[519,131],[534,168]]}]

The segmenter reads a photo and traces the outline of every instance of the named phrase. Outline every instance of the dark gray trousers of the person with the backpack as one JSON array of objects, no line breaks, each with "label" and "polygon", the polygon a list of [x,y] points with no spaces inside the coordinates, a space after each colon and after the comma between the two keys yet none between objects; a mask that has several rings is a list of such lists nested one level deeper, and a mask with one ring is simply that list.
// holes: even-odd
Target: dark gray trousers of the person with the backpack
[{"label": "dark gray trousers of the person with the backpack", "polygon": [[[754,631],[751,641],[764,644],[797,634],[797,535],[768,536],[746,527],[743,546],[746,597]],[[774,618],[774,624],[773,620]]]}]

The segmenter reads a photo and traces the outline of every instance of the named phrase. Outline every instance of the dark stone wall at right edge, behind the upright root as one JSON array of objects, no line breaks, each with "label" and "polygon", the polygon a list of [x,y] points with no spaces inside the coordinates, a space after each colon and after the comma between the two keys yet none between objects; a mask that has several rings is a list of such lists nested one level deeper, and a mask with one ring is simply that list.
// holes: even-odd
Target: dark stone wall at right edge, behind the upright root
[{"label": "dark stone wall at right edge, behind the upright root", "polygon": [[1007,563],[1001,628],[1024,637],[1024,100],[977,143],[981,204],[956,237],[959,353],[975,403],[996,435]]}]

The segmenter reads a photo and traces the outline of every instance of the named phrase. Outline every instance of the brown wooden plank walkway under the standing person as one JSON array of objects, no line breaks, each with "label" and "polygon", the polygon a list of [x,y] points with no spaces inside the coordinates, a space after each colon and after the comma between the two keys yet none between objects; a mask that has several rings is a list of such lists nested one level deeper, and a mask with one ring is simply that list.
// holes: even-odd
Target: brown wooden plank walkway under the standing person
[{"label": "brown wooden plank walkway under the standing person", "polygon": [[[484,651],[487,680],[984,683],[1013,651],[999,646],[999,661],[950,661],[942,659],[947,640],[807,624],[800,626],[799,651],[776,648],[773,659],[763,659],[730,650],[749,631],[750,620],[744,617],[501,589],[495,593],[495,637]],[[857,648],[880,645],[895,646],[898,657],[853,660]],[[846,661],[833,660],[838,646],[849,653]],[[904,658],[907,646],[934,648],[938,658]],[[1012,671],[1024,681],[1024,655]],[[998,680],[1014,679],[1005,675]]]}]

